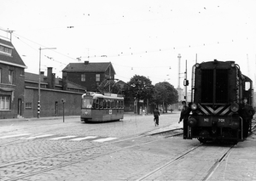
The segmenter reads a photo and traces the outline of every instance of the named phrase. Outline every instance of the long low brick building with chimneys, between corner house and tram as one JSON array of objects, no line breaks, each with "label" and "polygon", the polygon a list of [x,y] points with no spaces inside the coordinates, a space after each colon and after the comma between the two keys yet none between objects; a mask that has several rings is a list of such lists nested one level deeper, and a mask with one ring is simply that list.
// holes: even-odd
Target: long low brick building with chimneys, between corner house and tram
[{"label": "long low brick building with chimneys, between corner house and tram", "polygon": [[[38,116],[38,74],[25,72],[25,110],[24,117]],[[64,90],[63,84],[66,85]],[[48,67],[47,76],[40,74],[40,116],[62,116],[63,105],[65,116],[80,115],[81,95],[85,88],[73,82],[62,82]],[[61,101],[65,99],[65,103]]]}]

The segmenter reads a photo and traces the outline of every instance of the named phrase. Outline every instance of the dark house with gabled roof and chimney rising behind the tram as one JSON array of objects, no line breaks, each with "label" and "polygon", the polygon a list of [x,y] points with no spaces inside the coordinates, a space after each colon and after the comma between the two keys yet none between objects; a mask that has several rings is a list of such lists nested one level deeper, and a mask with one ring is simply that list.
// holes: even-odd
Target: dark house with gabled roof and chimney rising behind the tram
[{"label": "dark house with gabled roof and chimney rising behind the tram", "polygon": [[98,86],[104,80],[114,80],[114,75],[111,62],[70,63],[62,70],[63,88],[67,88],[70,81],[85,87],[87,91],[98,91]]}]

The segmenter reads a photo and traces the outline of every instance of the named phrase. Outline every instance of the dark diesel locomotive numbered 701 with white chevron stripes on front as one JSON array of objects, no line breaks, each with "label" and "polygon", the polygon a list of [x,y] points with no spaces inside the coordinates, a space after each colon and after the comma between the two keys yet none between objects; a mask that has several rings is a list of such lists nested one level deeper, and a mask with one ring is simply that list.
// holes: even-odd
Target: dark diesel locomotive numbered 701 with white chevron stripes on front
[{"label": "dark diesel locomotive numbered 701 with white chevron stripes on front", "polygon": [[235,61],[196,63],[192,68],[191,112],[183,122],[183,139],[230,141],[243,138],[239,105],[243,97],[253,105],[253,82]]}]

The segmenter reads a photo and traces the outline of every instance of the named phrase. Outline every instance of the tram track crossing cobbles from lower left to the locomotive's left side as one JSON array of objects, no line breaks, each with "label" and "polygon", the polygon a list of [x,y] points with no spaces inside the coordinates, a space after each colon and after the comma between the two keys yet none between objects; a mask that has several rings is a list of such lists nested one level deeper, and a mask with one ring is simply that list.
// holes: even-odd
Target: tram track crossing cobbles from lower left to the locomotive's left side
[{"label": "tram track crossing cobbles from lower left to the locomotive's left side", "polygon": [[[177,129],[175,129],[177,130]],[[172,132],[172,130],[169,130],[169,132]],[[159,132],[159,134],[162,132]],[[166,132],[165,132],[166,133]],[[154,133],[154,135],[156,135],[157,133]],[[77,150],[70,150],[70,151],[65,151],[65,152],[59,152],[59,153],[55,153],[49,156],[40,156],[40,157],[35,157],[35,158],[31,158],[31,159],[26,159],[26,160],[22,160],[22,161],[15,161],[15,162],[10,162],[7,164],[3,164],[0,165],[0,171],[1,169],[8,169],[9,167],[19,167],[19,165],[22,165],[22,167],[31,167],[32,165],[40,165],[40,162],[46,162],[49,163],[49,165],[44,165],[44,168],[36,168],[35,171],[32,171],[30,173],[24,173],[22,175],[16,176],[16,177],[9,177],[9,178],[3,178],[3,181],[7,181],[7,180],[17,180],[17,179],[21,179],[21,178],[27,178],[27,177],[31,177],[33,175],[37,175],[40,173],[46,173],[49,172],[51,170],[55,170],[61,167],[67,167],[79,162],[83,162],[83,161],[90,161],[90,160],[94,160],[98,157],[102,157],[102,156],[108,156],[114,153],[117,153],[119,151],[122,150],[127,150],[127,149],[131,149],[133,147],[137,147],[137,146],[141,146],[143,144],[150,144],[150,143],[154,143],[157,142],[158,140],[153,139],[153,140],[147,140],[143,143],[138,143],[138,144],[132,144],[132,145],[128,145],[125,146],[123,148],[119,148],[119,149],[115,149],[115,150],[109,150],[105,153],[101,153],[101,154],[94,154],[94,152],[97,152],[97,150],[104,150],[103,148],[111,145],[111,144],[118,144],[121,142],[125,142],[127,140],[131,140],[131,139],[138,139],[138,138],[142,138],[142,137],[148,137],[148,136],[152,136],[150,134],[140,134],[137,136],[132,136],[131,138],[126,138],[126,139],[122,139],[119,141],[113,141],[111,143],[108,144],[101,144],[101,145],[96,145],[96,146],[90,146],[84,149],[77,149]],[[173,135],[173,136],[176,136]],[[171,135],[168,135],[168,137],[172,137]],[[63,161],[63,156],[67,157],[67,160],[64,159]],[[73,158],[73,159],[69,159],[69,158]],[[52,160],[54,159],[55,162],[57,162],[57,164],[55,164]],[[58,159],[60,159],[60,161],[58,161]],[[64,162],[64,163],[62,163]],[[17,169],[19,170],[19,169]]]}]

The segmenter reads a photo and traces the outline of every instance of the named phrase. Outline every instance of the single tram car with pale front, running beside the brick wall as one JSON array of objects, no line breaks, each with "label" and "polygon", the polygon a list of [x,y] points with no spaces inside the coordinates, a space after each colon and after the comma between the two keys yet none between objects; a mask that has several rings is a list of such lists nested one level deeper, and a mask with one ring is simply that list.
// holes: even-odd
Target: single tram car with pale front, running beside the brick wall
[{"label": "single tram car with pale front, running beside the brick wall", "polygon": [[81,122],[110,122],[124,118],[124,97],[113,93],[82,95]]}]

